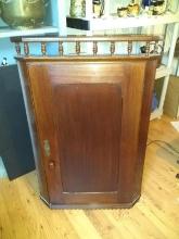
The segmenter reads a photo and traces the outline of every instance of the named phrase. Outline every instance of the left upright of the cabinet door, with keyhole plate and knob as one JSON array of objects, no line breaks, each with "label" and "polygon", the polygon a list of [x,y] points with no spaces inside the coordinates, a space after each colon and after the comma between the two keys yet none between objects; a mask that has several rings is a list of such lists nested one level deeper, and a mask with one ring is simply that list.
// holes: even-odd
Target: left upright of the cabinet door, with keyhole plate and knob
[{"label": "left upright of the cabinet door, with keyhole plate and knob", "polygon": [[38,134],[38,163],[47,178],[50,203],[63,202],[51,84],[46,67],[37,63],[28,63],[28,75]]}]

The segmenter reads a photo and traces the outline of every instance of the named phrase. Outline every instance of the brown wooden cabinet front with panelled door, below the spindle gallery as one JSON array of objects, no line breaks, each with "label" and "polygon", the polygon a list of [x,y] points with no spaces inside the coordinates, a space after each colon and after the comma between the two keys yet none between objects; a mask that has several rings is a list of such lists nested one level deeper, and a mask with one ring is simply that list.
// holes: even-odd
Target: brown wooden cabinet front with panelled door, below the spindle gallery
[{"label": "brown wooden cabinet front with panelled door, below the spindle gallery", "polygon": [[145,75],[155,62],[150,64],[28,63],[51,205],[128,206],[139,198],[154,78]]}]

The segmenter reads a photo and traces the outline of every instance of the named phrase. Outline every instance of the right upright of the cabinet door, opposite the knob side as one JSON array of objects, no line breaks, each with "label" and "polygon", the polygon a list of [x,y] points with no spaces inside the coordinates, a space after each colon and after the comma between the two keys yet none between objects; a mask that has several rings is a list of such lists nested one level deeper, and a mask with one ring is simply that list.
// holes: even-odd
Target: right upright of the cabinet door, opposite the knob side
[{"label": "right upright of the cabinet door, opposite the knob side", "polygon": [[[146,61],[126,62],[128,71],[123,84],[124,108],[122,118],[122,149],[119,167],[119,189],[120,202],[131,202],[140,194],[135,192],[135,179],[138,178],[136,165],[139,161],[138,143],[141,122],[142,97],[144,89]],[[146,134],[146,131],[145,131]]]}]

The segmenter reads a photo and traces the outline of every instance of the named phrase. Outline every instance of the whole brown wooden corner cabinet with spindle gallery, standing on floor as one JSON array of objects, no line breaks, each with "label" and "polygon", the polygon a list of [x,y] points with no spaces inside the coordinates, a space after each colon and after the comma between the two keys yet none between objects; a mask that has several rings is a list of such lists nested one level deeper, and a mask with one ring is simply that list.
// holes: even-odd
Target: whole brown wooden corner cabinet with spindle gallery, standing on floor
[{"label": "whole brown wooden corner cabinet with spindle gallery, standing on floor", "polygon": [[[131,207],[139,200],[161,39],[14,40],[40,196],[51,209]],[[30,54],[33,42],[40,55]],[[141,42],[145,53],[137,52]],[[56,55],[48,53],[49,43]],[[107,54],[100,54],[100,45]]]}]

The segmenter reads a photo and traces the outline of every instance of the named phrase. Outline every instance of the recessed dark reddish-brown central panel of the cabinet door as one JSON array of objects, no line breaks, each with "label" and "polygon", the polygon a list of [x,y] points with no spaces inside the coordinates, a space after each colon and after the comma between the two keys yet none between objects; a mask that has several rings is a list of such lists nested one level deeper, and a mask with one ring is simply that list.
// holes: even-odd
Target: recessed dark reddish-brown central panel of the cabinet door
[{"label": "recessed dark reddish-brown central panel of the cabinet door", "polygon": [[122,93],[112,84],[54,90],[63,190],[117,191]]}]

